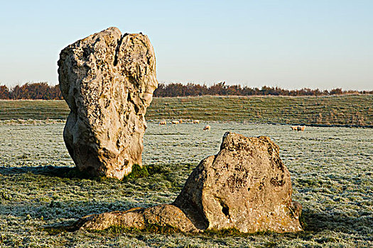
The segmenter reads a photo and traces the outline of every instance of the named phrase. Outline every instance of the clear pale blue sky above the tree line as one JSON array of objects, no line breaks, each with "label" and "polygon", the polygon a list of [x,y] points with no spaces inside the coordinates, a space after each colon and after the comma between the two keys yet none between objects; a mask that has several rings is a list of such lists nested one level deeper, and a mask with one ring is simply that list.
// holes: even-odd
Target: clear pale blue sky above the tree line
[{"label": "clear pale blue sky above the tree line", "polygon": [[373,89],[373,1],[1,1],[0,85],[58,83],[60,50],[143,32],[160,82]]}]

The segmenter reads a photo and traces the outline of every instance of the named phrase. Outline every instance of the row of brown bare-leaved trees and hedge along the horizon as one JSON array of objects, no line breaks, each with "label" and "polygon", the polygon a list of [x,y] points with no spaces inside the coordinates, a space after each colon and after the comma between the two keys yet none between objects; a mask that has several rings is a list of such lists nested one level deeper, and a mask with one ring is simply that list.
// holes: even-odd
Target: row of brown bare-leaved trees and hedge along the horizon
[{"label": "row of brown bare-leaved trees and hedge along the horizon", "polygon": [[[262,86],[251,88],[240,84],[227,85],[225,82],[206,86],[205,84],[159,84],[154,91],[156,97],[176,97],[176,96],[332,96],[342,94],[373,94],[373,91],[344,91],[340,88],[331,90],[320,89],[281,89],[279,87]],[[22,86],[14,86],[9,89],[5,85],[0,85],[0,99],[43,99],[62,100],[63,96],[60,86],[50,86],[46,82],[26,83]]]}]

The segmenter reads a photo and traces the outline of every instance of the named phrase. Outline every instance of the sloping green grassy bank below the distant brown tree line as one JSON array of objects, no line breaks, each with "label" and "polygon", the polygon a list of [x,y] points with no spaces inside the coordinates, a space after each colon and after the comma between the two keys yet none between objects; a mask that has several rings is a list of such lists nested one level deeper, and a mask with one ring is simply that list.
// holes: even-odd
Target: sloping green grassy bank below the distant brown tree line
[{"label": "sloping green grassy bank below the distant brown tree line", "polygon": [[[65,119],[65,101],[0,101],[0,120]],[[373,95],[153,98],[147,120],[200,119],[306,125],[373,125]]]}]

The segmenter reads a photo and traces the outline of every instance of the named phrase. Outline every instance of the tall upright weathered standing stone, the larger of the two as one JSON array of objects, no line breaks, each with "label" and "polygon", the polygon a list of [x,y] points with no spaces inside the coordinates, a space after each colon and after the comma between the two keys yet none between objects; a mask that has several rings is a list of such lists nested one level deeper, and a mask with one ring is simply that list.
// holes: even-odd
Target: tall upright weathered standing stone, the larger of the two
[{"label": "tall upright weathered standing stone, the larger of the two", "polygon": [[70,156],[81,171],[122,179],[141,165],[144,115],[158,86],[148,37],[107,28],[65,47],[58,66]]}]

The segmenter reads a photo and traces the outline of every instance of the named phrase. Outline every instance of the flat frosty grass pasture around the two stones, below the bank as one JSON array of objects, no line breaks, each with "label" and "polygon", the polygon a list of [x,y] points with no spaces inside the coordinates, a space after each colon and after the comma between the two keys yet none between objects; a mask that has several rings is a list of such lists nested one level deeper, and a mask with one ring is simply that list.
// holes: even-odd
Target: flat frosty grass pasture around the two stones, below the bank
[{"label": "flat frosty grass pasture around the two stones, below the bank", "polygon": [[[150,176],[116,181],[75,178],[63,124],[0,125],[0,247],[372,247],[373,130],[287,125],[148,123],[143,162]],[[50,232],[92,213],[171,203],[222,135],[267,135],[291,171],[305,232],[173,235]],[[57,176],[57,174],[62,176]]]}]

